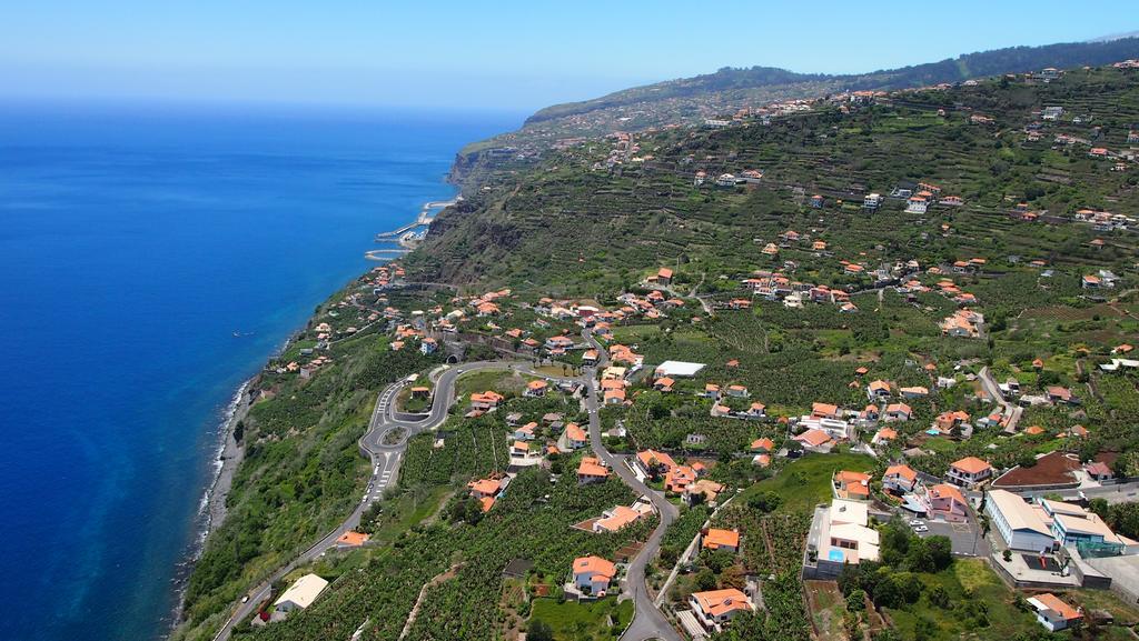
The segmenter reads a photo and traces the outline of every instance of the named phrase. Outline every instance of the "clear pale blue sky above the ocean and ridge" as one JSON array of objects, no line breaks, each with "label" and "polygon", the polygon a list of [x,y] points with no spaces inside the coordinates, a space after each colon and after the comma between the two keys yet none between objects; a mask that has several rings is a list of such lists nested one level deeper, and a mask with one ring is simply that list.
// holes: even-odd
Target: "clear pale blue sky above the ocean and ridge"
[{"label": "clear pale blue sky above the ocean and ridge", "polygon": [[11,1],[0,99],[531,110],[722,66],[866,72],[1139,28],[1134,0],[543,5]]}]

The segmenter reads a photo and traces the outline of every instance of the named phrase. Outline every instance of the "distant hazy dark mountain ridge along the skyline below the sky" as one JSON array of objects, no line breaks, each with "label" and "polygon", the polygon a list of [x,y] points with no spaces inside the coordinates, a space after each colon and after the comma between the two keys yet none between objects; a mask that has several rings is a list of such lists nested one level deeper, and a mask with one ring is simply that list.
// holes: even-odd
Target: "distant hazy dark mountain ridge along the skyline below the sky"
[{"label": "distant hazy dark mountain ridge along the skyline below the sky", "polygon": [[1099,66],[1139,57],[1139,38],[1122,36],[1096,42],[1066,42],[1042,47],[1010,47],[947,58],[936,63],[867,74],[801,74],[777,67],[724,67],[712,74],[671,80],[616,91],[580,102],[565,102],[540,109],[526,120],[533,125],[599,109],[652,104],[667,99],[728,93],[780,85],[804,85],[828,91],[894,90],[939,83],[961,82],[1006,73],[1024,73],[1044,67],[1071,68]]}]

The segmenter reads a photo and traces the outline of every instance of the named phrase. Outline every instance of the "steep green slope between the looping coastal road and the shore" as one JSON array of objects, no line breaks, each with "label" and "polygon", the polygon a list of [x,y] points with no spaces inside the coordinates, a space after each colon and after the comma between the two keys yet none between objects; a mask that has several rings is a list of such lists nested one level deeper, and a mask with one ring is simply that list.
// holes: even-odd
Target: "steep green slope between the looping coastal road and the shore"
[{"label": "steep green slope between the looping coastal road and the shore", "polygon": [[417,351],[388,350],[379,335],[352,338],[331,354],[334,364],[310,379],[277,373],[271,364],[255,381],[254,392],[267,397],[243,420],[245,459],[227,500],[229,516],[187,586],[191,625],[227,608],[351,511],[368,477],[357,439],[376,393],[432,362]]}]

